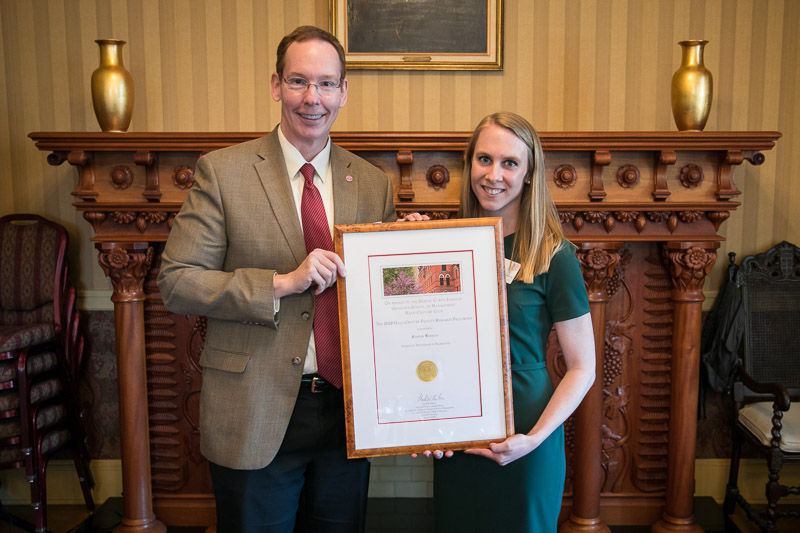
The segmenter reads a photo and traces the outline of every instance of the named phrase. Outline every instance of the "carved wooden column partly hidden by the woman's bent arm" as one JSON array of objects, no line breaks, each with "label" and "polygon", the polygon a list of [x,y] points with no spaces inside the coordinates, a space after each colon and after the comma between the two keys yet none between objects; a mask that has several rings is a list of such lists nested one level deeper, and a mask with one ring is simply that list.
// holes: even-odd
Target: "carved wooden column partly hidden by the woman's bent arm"
[{"label": "carved wooden column partly hidden by the woman's bent arm", "polygon": [[619,263],[622,243],[583,243],[578,250],[594,330],[596,378],[586,397],[575,412],[575,480],[572,512],[562,523],[561,533],[609,532],[600,519],[600,490],[602,485],[602,407],[603,407],[603,348],[608,293],[606,284]]}]

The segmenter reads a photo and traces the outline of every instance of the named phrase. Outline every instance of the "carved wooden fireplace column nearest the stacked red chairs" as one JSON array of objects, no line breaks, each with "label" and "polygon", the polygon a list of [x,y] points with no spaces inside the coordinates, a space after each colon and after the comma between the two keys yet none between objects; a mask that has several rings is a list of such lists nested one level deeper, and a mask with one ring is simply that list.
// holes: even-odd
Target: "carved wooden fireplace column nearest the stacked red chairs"
[{"label": "carved wooden fireplace column nearest the stacked red chairs", "polygon": [[116,328],[122,447],[122,521],[117,533],[166,532],[153,513],[150,488],[150,441],[147,421],[143,285],[153,261],[148,243],[98,243],[98,258],[111,278]]}]

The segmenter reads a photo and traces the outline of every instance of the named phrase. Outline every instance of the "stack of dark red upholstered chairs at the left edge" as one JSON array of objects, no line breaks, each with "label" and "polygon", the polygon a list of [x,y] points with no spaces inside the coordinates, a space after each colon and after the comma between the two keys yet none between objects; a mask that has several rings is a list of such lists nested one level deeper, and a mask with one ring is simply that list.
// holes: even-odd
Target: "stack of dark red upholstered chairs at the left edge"
[{"label": "stack of dark red upholstered chairs at the left edge", "polygon": [[25,468],[36,531],[47,530],[45,472],[58,452],[71,452],[94,509],[76,388],[83,337],[66,251],[62,226],[37,215],[0,218],[0,468]]}]

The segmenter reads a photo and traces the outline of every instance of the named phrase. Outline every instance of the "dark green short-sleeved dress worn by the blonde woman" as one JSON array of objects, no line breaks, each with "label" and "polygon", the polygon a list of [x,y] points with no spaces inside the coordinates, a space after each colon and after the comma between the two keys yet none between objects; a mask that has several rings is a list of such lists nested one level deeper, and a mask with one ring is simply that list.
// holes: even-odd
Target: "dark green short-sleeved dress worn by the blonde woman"
[{"label": "dark green short-sleeved dress worn by the blonde woman", "polygon": [[[513,235],[505,238],[506,257]],[[553,394],[545,368],[553,322],[589,312],[589,301],[574,248],[565,243],[547,273],[533,283],[506,285],[511,348],[514,428],[533,428]],[[557,529],[565,475],[564,427],[538,448],[500,466],[489,459],[457,452],[434,461],[436,531],[553,532]]]}]

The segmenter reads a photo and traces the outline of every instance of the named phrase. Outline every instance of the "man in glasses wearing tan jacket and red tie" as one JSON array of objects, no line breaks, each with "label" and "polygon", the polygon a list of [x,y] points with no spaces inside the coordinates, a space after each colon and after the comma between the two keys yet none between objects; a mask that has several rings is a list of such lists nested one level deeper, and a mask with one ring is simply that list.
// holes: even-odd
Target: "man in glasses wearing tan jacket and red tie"
[{"label": "man in glasses wearing tan jacket and red tie", "polygon": [[208,317],[200,430],[217,531],[361,531],[369,463],[346,458],[340,382],[318,375],[318,354],[338,341],[314,334],[320,295],[346,272],[309,244],[303,196],[321,199],[330,232],[395,220],[391,181],[330,142],[347,101],[334,36],[303,26],[284,37],[270,84],[281,123],[198,160],[158,284],[171,311]]}]

